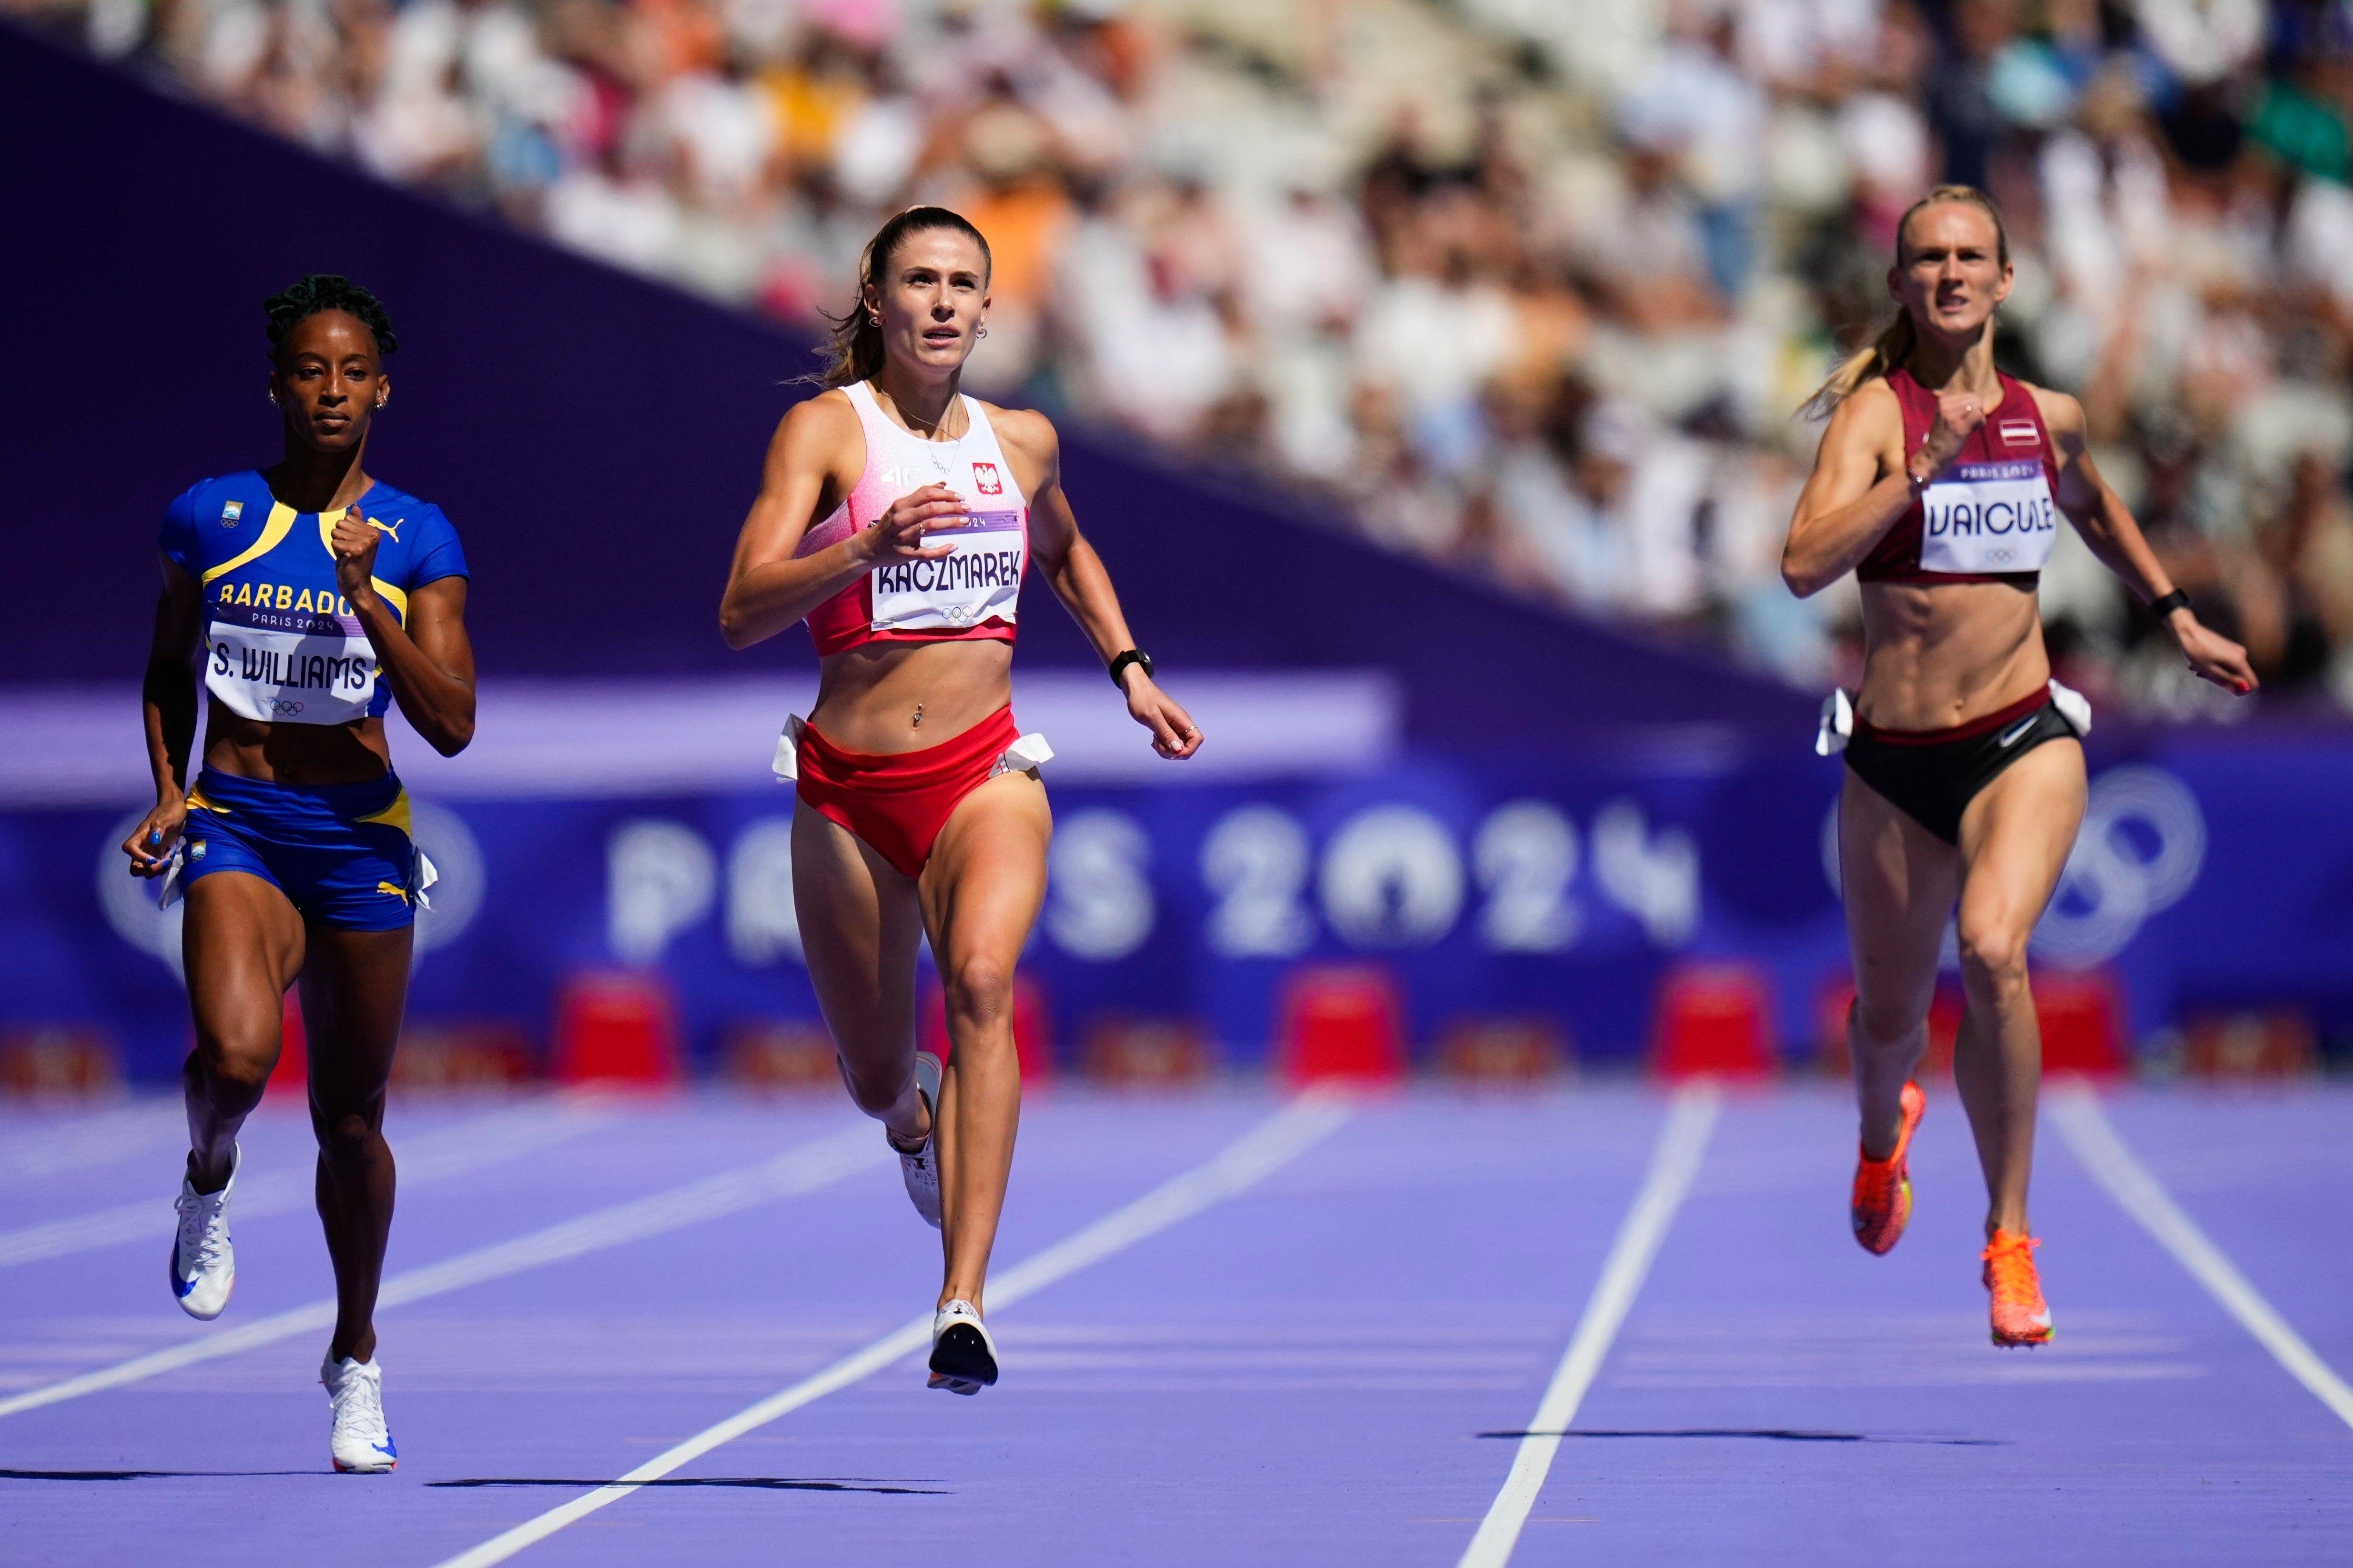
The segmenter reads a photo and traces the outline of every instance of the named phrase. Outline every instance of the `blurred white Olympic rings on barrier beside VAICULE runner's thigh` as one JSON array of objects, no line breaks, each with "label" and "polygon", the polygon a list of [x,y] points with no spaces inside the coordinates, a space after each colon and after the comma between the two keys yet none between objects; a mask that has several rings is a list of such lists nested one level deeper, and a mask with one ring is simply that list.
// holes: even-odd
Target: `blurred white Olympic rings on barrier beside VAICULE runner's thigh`
[{"label": "blurred white Olympic rings on barrier beside VAICULE runner's thigh", "polygon": [[2195,886],[2205,846],[2205,813],[2188,785],[2158,766],[2108,769],[2092,780],[2075,849],[2035,926],[2035,957],[2068,966],[2113,959],[2151,914]]}]

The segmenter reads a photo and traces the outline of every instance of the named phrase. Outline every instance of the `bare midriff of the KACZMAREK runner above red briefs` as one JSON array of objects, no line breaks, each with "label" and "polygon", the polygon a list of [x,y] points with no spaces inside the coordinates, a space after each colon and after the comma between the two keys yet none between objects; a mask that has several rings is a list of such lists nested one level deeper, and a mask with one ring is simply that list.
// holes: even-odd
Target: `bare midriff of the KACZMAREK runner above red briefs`
[{"label": "bare midriff of the KACZMAREK runner above red briefs", "polygon": [[896,757],[953,741],[1012,696],[1009,642],[868,642],[819,661],[809,724],[847,752]]}]

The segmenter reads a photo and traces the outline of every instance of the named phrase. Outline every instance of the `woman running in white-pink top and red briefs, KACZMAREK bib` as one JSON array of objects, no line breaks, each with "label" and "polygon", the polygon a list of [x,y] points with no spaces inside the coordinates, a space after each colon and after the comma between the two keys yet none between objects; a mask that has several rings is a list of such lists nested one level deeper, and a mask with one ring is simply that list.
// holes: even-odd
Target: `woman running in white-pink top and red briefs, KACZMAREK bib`
[{"label": "woman running in white-pink top and red briefs, KACZMAREK bib", "polygon": [[[866,247],[826,393],[793,407],[720,602],[729,646],[807,621],[816,708],[776,771],[798,780],[793,900],[842,1081],[885,1126],[908,1194],[941,1227],[932,1387],[998,1380],[981,1324],[1021,1072],[1014,961],[1045,898],[1052,837],[1012,717],[1012,642],[1035,559],[1111,665],[1162,757],[1200,750],[1061,494],[1054,425],[958,393],[986,331],[988,242],[944,207],[901,212]],[[948,1001],[946,1070],[915,1051],[915,952]]]}]

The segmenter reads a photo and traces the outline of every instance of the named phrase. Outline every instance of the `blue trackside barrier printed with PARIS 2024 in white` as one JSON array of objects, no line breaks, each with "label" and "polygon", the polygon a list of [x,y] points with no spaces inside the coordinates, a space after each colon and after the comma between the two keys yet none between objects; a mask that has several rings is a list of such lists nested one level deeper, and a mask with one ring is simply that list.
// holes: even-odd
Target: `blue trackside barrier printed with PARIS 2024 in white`
[{"label": "blue trackside barrier printed with PARIS 2024 in white", "polygon": [[[1715,750],[1711,750],[1715,748]],[[1047,769],[1052,785],[1052,769]],[[1645,1046],[1661,976],[1737,959],[1784,1053],[1845,976],[1828,837],[1840,769],[1673,733],[1572,759],[1428,752],[1325,778],[1054,785],[1052,884],[1024,959],[1068,1056],[1106,1016],[1188,1018],[1266,1058],[1282,978],[1386,964],[1426,1048],[1452,1020],[1546,1016],[1586,1058]],[[2092,804],[2042,966],[2111,966],[2129,1030],[2289,1004],[2353,1027],[2353,748],[2172,733],[2092,748]],[[0,1025],[106,1032],[134,1077],[186,1051],[179,910],[113,849],[136,813],[0,811]],[[562,980],[642,969],[689,1060],[741,1020],[814,1020],[784,788],[607,799],[419,799],[442,870],[414,1020],[546,1039]]]}]

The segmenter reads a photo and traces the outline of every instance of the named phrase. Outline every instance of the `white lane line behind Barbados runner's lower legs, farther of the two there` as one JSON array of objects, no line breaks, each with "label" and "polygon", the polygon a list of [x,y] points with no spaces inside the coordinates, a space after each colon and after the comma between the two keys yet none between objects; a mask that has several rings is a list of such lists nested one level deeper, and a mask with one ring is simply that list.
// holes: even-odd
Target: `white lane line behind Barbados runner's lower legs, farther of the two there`
[{"label": "white lane line behind Barbados runner's lower legs, farther of the two there", "polygon": [[[579,1138],[588,1128],[609,1119],[612,1110],[584,1105],[572,1095],[560,1095],[551,1103],[518,1105],[489,1117],[459,1121],[456,1126],[438,1126],[393,1145],[393,1157],[400,1161],[400,1190],[409,1192],[424,1182],[464,1175],[466,1171],[478,1171],[501,1159],[515,1159],[518,1154],[536,1154],[539,1150]],[[172,1175],[179,1175],[176,1161],[162,1171],[165,1180]],[[231,1201],[228,1218],[231,1222],[259,1220],[275,1213],[311,1208],[315,1201],[315,1185],[318,1178],[311,1166],[304,1166],[301,1171],[259,1171],[238,1182],[238,1194]],[[179,1190],[172,1187],[172,1192],[176,1194]],[[0,1232],[0,1269],[38,1262],[42,1258],[87,1253],[99,1246],[120,1246],[125,1241],[160,1244],[160,1239],[169,1234],[169,1197],[115,1204],[113,1208],[94,1208],[92,1213],[66,1215],[64,1220],[45,1220],[40,1225],[26,1225],[24,1229]]]}]

